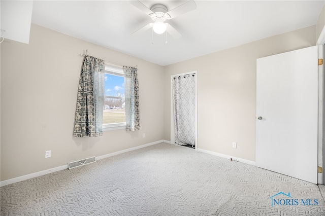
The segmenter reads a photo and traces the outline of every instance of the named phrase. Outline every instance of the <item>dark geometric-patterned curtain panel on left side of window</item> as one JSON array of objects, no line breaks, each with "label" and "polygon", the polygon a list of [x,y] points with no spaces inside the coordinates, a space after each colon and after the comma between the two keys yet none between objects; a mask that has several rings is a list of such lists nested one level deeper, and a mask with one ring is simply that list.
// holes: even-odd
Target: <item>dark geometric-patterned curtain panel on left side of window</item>
[{"label": "dark geometric-patterned curtain panel on left side of window", "polygon": [[81,68],[73,136],[102,136],[105,61],[86,56]]}]

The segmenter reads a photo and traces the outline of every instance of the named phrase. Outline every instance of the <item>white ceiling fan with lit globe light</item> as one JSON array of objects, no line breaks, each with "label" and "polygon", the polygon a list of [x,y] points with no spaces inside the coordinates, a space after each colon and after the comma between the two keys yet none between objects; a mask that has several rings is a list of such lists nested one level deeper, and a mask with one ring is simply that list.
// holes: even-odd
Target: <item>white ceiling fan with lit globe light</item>
[{"label": "white ceiling fan with lit globe light", "polygon": [[148,30],[149,28],[152,28],[152,30],[157,34],[162,34],[167,31],[172,35],[172,37],[176,39],[180,38],[182,35],[173,26],[171,26],[165,21],[173,19],[176,16],[185,14],[197,8],[197,5],[193,0],[187,1],[170,11],[163,4],[155,4],[150,9],[140,1],[131,1],[131,4],[133,4],[138,9],[149,15],[153,21],[143,26],[139,30],[135,31],[134,33],[143,32]]}]

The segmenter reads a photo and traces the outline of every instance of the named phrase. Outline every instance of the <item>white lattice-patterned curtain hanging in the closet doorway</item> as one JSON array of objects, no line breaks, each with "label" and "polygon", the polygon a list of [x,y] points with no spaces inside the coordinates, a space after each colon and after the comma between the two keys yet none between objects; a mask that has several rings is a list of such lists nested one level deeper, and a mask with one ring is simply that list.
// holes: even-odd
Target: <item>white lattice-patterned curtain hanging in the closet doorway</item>
[{"label": "white lattice-patterned curtain hanging in the closet doorway", "polygon": [[175,142],[195,146],[195,74],[173,78]]}]

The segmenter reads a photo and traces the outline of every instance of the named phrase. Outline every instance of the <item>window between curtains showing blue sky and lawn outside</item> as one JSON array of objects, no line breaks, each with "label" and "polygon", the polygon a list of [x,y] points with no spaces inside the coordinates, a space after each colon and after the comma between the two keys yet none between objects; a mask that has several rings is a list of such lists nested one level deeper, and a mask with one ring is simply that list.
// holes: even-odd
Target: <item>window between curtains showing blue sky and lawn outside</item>
[{"label": "window between curtains showing blue sky and lawn outside", "polygon": [[105,65],[103,130],[125,129],[123,69]]}]

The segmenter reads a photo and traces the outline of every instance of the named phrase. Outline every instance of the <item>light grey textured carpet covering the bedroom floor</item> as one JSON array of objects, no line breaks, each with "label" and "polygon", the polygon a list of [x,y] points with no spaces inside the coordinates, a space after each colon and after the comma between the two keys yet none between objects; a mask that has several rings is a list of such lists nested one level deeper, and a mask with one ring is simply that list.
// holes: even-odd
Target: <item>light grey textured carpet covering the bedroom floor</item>
[{"label": "light grey textured carpet covering the bedroom floor", "polygon": [[[272,206],[270,197],[280,192]],[[325,215],[324,192],[293,177],[160,143],[1,187],[1,215]]]}]

